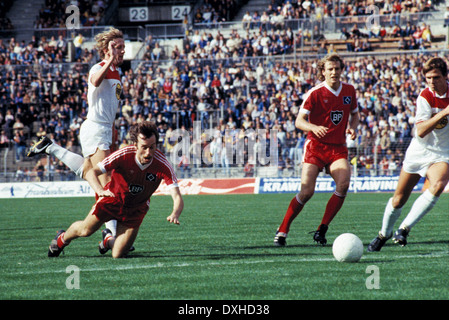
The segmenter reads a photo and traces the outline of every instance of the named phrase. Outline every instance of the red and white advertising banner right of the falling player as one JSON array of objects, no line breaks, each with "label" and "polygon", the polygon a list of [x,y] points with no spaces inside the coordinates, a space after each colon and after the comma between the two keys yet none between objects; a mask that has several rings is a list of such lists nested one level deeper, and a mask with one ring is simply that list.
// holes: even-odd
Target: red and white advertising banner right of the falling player
[{"label": "red and white advertising banner right of the falling player", "polygon": [[[255,178],[243,179],[182,179],[178,181],[181,194],[254,194]],[[162,181],[154,195],[170,194]]]}]

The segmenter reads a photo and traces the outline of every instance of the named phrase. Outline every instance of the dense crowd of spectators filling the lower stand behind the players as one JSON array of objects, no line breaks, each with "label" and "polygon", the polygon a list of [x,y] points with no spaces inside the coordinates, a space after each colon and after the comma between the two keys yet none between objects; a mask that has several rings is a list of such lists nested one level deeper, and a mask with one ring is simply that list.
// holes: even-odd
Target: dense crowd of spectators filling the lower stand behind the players
[{"label": "dense crowd of spectators filling the lower stand behind the players", "polygon": [[[260,34],[281,37],[289,35],[289,31],[262,30]],[[175,54],[172,53],[168,67],[151,63],[155,57],[147,49],[148,63],[134,70],[124,70],[121,78],[123,104],[116,121],[117,144],[121,147],[128,144],[130,125],[150,120],[159,128],[160,148],[170,153],[178,142],[174,131],[185,129],[193,139],[194,121],[200,121],[203,129],[213,129],[213,138],[190,141],[191,152],[197,152],[198,146],[204,148],[209,144],[211,152],[204,154],[208,159],[200,163],[177,159],[175,164],[183,173],[195,166],[217,166],[226,170],[236,163],[236,155],[229,157],[225,152],[220,153],[225,143],[223,137],[232,137],[234,141],[239,137],[256,140],[255,136],[245,137],[245,132],[276,129],[279,170],[292,172],[301,159],[305,140],[304,134],[295,128],[294,121],[303,95],[318,81],[317,60],[273,62],[272,59],[260,59],[254,51],[241,54],[249,50],[248,47],[257,48],[251,41],[255,38],[234,44],[232,52],[237,52],[233,56],[236,59],[221,60],[219,50],[213,48],[222,50],[229,39],[238,39],[239,35],[231,34],[226,41],[219,32],[215,38],[211,38],[207,31],[202,35],[207,39],[203,47],[201,40],[195,44],[194,35],[187,37],[183,49],[173,50]],[[156,43],[148,38],[147,48],[156,47]],[[38,43],[37,48],[41,46]],[[204,60],[192,56],[193,50],[186,51],[186,48],[198,47],[205,52],[204,56],[199,55]],[[6,52],[11,52],[10,44]],[[362,174],[370,174],[371,170],[376,170],[376,174],[398,173],[403,152],[412,137],[416,98],[425,86],[421,66],[429,57],[426,54],[387,58],[373,55],[347,60],[343,80],[355,85],[362,114],[359,138],[355,142],[348,140],[348,147],[351,159],[358,155],[354,163]],[[92,52],[86,51],[82,59],[85,62],[92,59]],[[84,69],[62,73],[40,73],[34,68],[2,69],[0,147],[13,148],[18,165],[24,160],[26,148],[43,135],[69,150],[80,151],[77,136],[87,114],[88,68],[87,64],[79,66]],[[251,154],[245,154],[244,162],[239,163],[245,175],[253,172],[251,157]],[[61,163],[50,160],[44,171],[50,166],[58,167],[58,170],[50,171],[64,172],[67,178],[70,176]],[[42,162],[36,165],[35,174],[37,167],[42,167]],[[22,168],[19,171],[23,172]],[[20,173],[20,176],[29,175]]]}]

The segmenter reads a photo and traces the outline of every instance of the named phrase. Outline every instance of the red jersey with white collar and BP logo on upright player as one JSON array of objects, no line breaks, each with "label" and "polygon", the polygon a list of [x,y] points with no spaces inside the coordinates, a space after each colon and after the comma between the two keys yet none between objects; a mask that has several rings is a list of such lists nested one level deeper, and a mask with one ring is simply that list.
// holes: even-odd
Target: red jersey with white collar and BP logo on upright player
[{"label": "red jersey with white collar and BP logo on upright player", "polygon": [[300,112],[308,114],[310,123],[328,128],[324,138],[319,139],[309,131],[308,139],[329,144],[345,144],[349,114],[357,112],[355,89],[352,85],[342,82],[340,88],[334,91],[323,81],[307,92]]}]

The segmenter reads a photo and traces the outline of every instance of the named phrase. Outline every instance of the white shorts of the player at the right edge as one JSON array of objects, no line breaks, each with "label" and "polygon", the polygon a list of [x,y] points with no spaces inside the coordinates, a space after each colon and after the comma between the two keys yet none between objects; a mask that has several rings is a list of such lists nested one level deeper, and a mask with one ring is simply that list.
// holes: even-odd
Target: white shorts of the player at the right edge
[{"label": "white shorts of the player at the right edge", "polygon": [[413,139],[405,153],[402,168],[405,172],[419,174],[421,177],[425,177],[429,167],[437,162],[449,163],[449,156],[429,151]]}]

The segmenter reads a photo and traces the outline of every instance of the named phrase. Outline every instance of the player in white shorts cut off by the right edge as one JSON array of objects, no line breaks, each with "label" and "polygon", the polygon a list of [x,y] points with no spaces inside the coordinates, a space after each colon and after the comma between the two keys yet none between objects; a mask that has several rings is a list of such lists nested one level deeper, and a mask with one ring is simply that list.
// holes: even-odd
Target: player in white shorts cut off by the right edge
[{"label": "player in white shorts cut off by the right edge", "polygon": [[[449,84],[448,67],[441,58],[431,58],[423,67],[427,88],[416,101],[415,136],[405,154],[398,185],[385,208],[382,229],[369,244],[368,251],[380,251],[393,238],[402,246],[407,244],[410,230],[436,204],[449,181]],[[421,177],[429,187],[413,203],[410,212],[393,234],[393,227],[401,215],[413,188]]]}]

